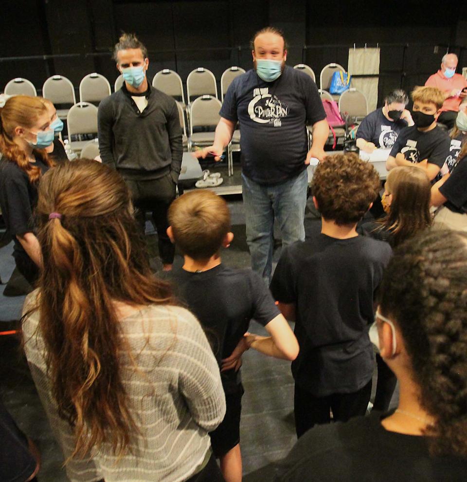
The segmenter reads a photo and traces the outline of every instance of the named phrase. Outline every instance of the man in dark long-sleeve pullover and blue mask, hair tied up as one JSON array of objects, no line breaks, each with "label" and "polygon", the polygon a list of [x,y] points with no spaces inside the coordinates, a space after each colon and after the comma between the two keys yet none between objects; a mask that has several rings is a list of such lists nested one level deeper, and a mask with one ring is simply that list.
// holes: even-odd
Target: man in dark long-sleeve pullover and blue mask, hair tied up
[{"label": "man in dark long-sleeve pullover and blue mask, hair tied up", "polygon": [[167,209],[175,199],[183,155],[179,113],[172,97],[149,85],[147,50],[134,35],[120,37],[114,58],[125,82],[99,105],[100,155],[125,179],[143,229],[145,213],[152,212],[167,271],[175,250],[166,233]]}]

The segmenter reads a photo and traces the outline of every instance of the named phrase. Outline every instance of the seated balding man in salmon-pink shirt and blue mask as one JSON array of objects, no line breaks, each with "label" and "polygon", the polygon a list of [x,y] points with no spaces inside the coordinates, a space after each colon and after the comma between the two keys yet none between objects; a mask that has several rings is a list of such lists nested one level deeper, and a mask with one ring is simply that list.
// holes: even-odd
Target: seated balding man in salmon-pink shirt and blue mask
[{"label": "seated balding man in salmon-pink shirt and blue mask", "polygon": [[430,75],[425,82],[425,85],[437,87],[446,94],[438,122],[448,126],[448,129],[454,127],[459,104],[467,95],[467,92],[463,91],[467,89],[467,80],[461,74],[456,74],[456,67],[456,54],[446,54],[441,60],[441,69],[436,74]]}]

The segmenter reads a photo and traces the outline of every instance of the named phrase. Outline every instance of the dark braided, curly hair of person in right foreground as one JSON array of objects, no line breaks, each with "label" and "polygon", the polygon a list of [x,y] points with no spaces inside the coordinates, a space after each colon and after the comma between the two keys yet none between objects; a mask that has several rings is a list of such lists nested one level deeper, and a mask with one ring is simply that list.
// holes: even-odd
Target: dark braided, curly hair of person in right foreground
[{"label": "dark braided, curly hair of person in right foreground", "polygon": [[433,455],[467,456],[467,233],[425,231],[396,248],[379,310],[399,327]]}]

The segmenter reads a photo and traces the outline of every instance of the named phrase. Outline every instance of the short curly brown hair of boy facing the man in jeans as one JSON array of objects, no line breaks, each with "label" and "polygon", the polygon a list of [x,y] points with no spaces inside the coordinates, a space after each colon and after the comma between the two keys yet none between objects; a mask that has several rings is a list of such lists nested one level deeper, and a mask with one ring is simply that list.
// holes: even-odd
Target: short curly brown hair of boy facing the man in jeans
[{"label": "short curly brown hair of boy facing the man in jeans", "polygon": [[359,222],[376,199],[379,176],[357,154],[327,156],[313,173],[313,195],[324,219],[337,224]]}]

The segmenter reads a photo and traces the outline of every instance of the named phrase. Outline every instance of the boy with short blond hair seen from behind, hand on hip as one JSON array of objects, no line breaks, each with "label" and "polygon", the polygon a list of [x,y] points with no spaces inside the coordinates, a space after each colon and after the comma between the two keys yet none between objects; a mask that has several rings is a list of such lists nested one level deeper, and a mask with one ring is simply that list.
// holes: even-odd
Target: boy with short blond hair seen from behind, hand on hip
[{"label": "boy with short blond hair seen from behind, hand on hip", "polygon": [[[176,291],[205,329],[219,366],[226,395],[223,422],[211,435],[213,452],[227,482],[240,482],[240,413],[243,386],[239,367],[248,348],[293,360],[298,343],[286,319],[260,276],[250,269],[221,264],[220,249],[234,235],[227,203],[208,190],[183,194],[168,211],[167,234],[183,253],[184,263],[174,270]],[[263,325],[269,337],[246,333],[251,319]]]}]

